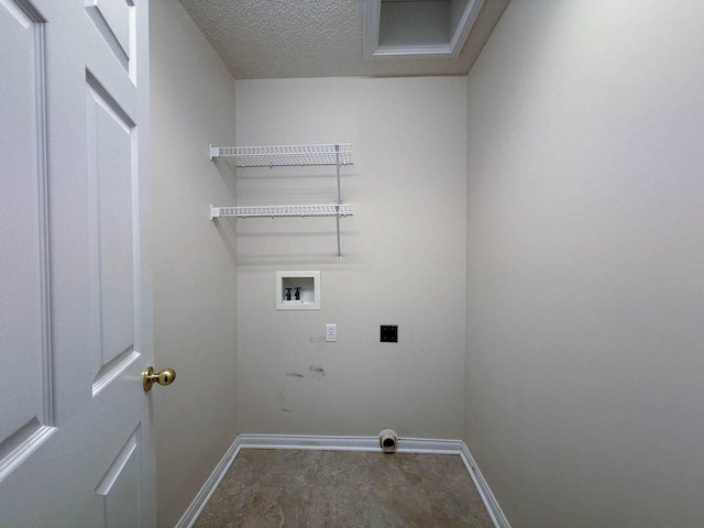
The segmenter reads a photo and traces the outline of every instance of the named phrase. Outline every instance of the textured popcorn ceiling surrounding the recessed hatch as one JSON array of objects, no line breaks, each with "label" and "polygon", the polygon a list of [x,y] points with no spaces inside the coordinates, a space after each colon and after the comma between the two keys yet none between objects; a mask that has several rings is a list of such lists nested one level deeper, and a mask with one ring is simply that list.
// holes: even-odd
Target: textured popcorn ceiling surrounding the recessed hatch
[{"label": "textured popcorn ceiling surrounding the recessed hatch", "polygon": [[180,0],[237,79],[466,74],[509,0],[485,0],[458,58],[363,58],[363,0]]}]

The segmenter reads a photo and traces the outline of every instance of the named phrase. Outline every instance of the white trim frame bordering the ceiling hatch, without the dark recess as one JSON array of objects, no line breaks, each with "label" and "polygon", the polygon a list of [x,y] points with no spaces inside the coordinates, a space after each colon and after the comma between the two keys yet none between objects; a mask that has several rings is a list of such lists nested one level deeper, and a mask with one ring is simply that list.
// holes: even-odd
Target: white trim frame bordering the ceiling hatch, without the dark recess
[{"label": "white trim frame bordering the ceiling hatch, without the dark recess", "polygon": [[[451,4],[453,1],[437,2]],[[461,1],[461,0],[460,0]],[[392,3],[385,1],[384,3]],[[414,9],[413,4],[433,4],[433,2],[395,1],[393,7],[396,13]],[[394,58],[457,58],[466,42],[466,37],[476,21],[476,16],[484,4],[484,0],[466,0],[462,9],[454,31],[449,28],[448,37],[440,43],[386,43],[380,45],[380,41],[388,41],[391,37],[380,38],[382,25],[382,0],[364,0],[364,58],[367,61],[394,59]],[[430,19],[427,19],[430,20]],[[387,26],[388,24],[384,24]]]}]

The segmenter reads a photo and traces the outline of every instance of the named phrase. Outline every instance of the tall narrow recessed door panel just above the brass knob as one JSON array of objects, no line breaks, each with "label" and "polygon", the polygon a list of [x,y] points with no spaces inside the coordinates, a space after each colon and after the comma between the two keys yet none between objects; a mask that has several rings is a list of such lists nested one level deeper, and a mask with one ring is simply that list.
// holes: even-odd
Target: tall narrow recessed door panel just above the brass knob
[{"label": "tall narrow recessed door panel just above the brass knob", "polygon": [[[88,82],[87,150],[95,374],[134,350],[134,122]],[[100,87],[105,92],[105,89]]]}]

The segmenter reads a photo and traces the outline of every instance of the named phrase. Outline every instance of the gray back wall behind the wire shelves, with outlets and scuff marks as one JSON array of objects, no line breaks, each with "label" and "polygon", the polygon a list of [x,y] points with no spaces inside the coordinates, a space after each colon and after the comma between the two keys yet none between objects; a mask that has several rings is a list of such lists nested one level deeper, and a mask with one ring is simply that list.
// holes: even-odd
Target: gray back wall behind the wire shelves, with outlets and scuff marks
[{"label": "gray back wall behind the wire shelves, with outlets and scuff marks", "polygon": [[[341,262],[333,218],[238,220],[242,432],[460,438],[466,78],[235,86],[240,145],[349,142],[354,156]],[[331,167],[239,170],[238,199],[324,204],[334,182]],[[292,270],[321,272],[319,311],[275,309],[275,273]]]}]

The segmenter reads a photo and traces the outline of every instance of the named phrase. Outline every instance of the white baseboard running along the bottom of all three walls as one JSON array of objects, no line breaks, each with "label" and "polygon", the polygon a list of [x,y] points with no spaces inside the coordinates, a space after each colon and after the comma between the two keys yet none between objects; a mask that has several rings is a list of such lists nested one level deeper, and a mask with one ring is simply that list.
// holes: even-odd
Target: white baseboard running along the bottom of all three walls
[{"label": "white baseboard running along the bottom of all three walls", "polygon": [[[218,484],[234,462],[241,449],[304,449],[315,451],[372,451],[382,452],[376,437],[321,437],[302,435],[240,435],[208,481],[204,484],[175,528],[191,528],[208,504]],[[496,528],[510,528],[498,507],[494,494],[476,466],[470,450],[462,440],[438,440],[427,438],[403,438],[396,443],[398,453],[459,454],[464,462],[484,506]]]}]

